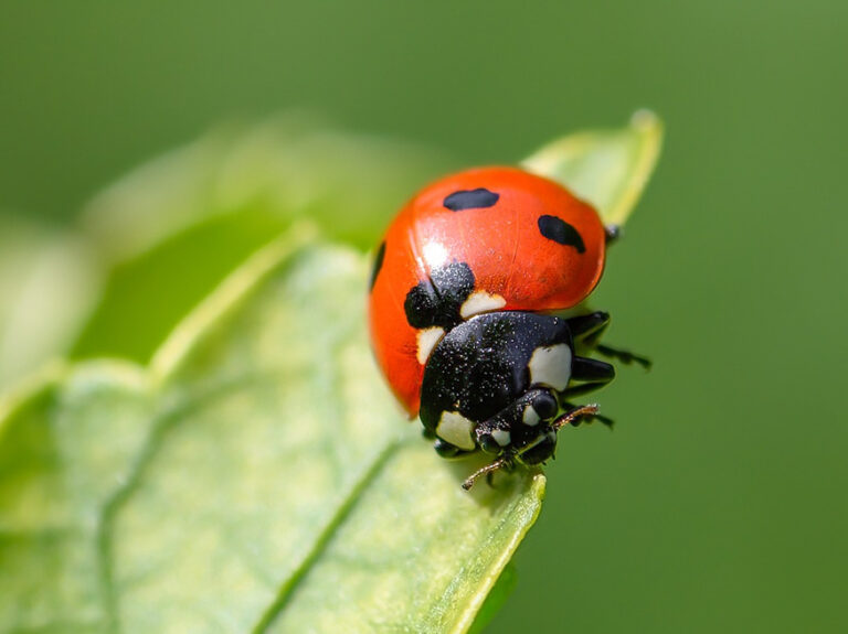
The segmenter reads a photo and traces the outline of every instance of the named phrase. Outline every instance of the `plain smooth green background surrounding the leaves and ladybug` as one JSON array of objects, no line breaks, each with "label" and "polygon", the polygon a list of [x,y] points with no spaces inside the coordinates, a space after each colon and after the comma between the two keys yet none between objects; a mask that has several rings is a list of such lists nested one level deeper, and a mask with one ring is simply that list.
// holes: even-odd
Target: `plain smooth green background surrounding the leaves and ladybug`
[{"label": "plain smooth green background surrounding the leaves and ladybug", "polygon": [[848,3],[0,2],[0,206],[293,108],[515,162],[658,111],[596,304],[650,354],[569,431],[488,631],[845,632]]}]

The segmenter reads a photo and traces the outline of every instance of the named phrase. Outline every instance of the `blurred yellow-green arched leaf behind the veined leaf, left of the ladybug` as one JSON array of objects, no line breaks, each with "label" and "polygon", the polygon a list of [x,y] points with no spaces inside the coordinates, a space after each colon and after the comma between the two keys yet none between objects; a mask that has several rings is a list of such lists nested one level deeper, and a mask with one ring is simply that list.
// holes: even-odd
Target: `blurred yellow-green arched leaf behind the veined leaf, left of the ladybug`
[{"label": "blurred yellow-green arched leaf behind the veined leaf, left of the ladybug", "polygon": [[331,238],[370,248],[412,191],[445,163],[411,143],[279,117],[215,130],[152,160],[96,196],[84,219],[120,259],[245,209],[286,222],[309,216]]}]

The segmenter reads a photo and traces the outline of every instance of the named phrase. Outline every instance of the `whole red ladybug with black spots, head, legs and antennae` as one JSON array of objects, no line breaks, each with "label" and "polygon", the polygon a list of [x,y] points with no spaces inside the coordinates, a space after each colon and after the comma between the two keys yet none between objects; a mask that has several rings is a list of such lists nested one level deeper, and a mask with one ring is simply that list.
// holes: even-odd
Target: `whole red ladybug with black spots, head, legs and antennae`
[{"label": "whole red ladybug with black spots, head, legs and antennae", "polygon": [[649,363],[601,344],[610,315],[579,308],[616,236],[562,185],[504,166],[431,184],[389,226],[370,280],[374,355],[439,455],[494,456],[464,488],[545,462],[564,425],[612,425],[572,402],[615,376],[589,353]]}]

